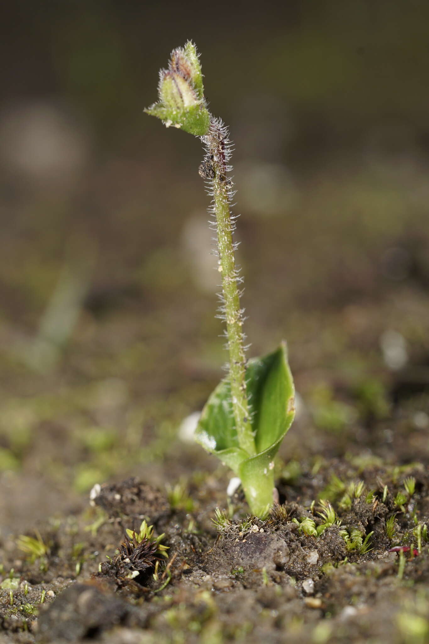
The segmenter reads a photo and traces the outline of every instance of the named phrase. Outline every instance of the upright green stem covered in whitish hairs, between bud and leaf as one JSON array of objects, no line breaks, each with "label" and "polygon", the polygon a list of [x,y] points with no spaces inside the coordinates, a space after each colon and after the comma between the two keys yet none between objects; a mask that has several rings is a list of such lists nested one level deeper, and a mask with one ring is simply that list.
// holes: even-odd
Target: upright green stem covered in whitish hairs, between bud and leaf
[{"label": "upright green stem covered in whitish hairs, between bud and leaf", "polygon": [[255,440],[250,424],[250,409],[246,392],[246,358],[244,357],[244,334],[240,308],[239,274],[235,266],[233,230],[230,213],[232,182],[226,173],[230,171],[228,132],[221,121],[212,118],[210,130],[203,137],[207,155],[201,164],[200,174],[212,180],[213,207],[216,219],[219,272],[222,276],[223,306],[221,317],[226,323],[228,352],[230,357],[229,378],[231,383],[232,410],[240,447],[250,456],[256,454]]}]

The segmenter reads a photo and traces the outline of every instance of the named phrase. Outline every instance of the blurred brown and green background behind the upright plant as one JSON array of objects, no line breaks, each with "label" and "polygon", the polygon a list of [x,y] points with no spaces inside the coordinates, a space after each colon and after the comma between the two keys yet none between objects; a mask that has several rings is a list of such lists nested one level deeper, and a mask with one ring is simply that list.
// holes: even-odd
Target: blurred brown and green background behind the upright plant
[{"label": "blurred brown and green background behind the upright plant", "polygon": [[[323,426],[320,400],[362,383],[384,410],[407,365],[420,375],[406,383],[427,391],[428,3],[64,0],[6,12],[3,529],[75,507],[95,482],[162,483],[205,459],[193,446],[176,458],[181,421],[226,359],[201,145],[142,113],[187,39],[235,142],[250,354],[288,339],[313,404],[304,428]],[[424,401],[423,429],[428,411]],[[355,422],[345,412],[322,417],[342,429]],[[288,440],[302,458],[298,433]]]}]

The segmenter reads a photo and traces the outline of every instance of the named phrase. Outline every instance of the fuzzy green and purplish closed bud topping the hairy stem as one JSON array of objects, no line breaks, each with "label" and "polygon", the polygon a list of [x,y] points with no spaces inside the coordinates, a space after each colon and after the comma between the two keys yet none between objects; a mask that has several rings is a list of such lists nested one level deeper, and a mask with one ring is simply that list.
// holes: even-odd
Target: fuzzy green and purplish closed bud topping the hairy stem
[{"label": "fuzzy green and purplish closed bud topping the hairy stem", "polygon": [[161,118],[169,128],[203,137],[210,127],[210,113],[206,108],[203,73],[196,46],[188,41],[184,48],[171,53],[168,70],[160,71],[158,84],[160,100],[145,112]]}]

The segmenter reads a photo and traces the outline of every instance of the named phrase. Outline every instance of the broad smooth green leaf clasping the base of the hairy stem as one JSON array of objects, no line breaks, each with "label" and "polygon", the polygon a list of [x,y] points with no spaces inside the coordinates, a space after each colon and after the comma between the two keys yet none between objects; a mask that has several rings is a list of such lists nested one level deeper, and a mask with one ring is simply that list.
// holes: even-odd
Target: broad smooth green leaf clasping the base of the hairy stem
[{"label": "broad smooth green leaf clasping the base of the hairy stem", "polygon": [[256,454],[250,455],[239,445],[228,380],[218,384],[205,404],[196,440],[241,478],[252,513],[264,517],[273,504],[274,457],[295,416],[286,343],[248,361],[246,388]]}]

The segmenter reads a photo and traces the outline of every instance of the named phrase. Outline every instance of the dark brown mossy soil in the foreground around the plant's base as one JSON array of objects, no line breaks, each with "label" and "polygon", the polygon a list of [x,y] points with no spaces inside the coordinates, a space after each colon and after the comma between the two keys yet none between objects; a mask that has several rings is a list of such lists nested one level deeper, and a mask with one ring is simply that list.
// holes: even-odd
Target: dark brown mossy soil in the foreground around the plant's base
[{"label": "dark brown mossy soil in the foreground around the plant's base", "polygon": [[[350,508],[341,509],[341,465],[324,464],[316,474],[304,468],[293,486],[296,500],[275,507],[266,521],[248,517],[243,522],[242,499],[235,493],[229,505],[231,518],[221,535],[210,518],[213,498],[223,506],[225,497],[221,479],[212,475],[206,477],[209,497],[201,495],[200,482],[199,498],[188,512],[171,509],[164,493],[136,478],[105,484],[90,513],[40,527],[41,539],[48,545],[43,560],[18,561],[14,542],[6,540],[3,578],[12,576],[19,586],[13,596],[2,591],[5,637],[46,643],[86,639],[122,643],[132,638],[417,641],[406,639],[404,632],[410,616],[417,616],[424,634],[429,546],[426,541],[419,554],[405,554],[403,573],[399,554],[388,549],[393,544],[417,547],[413,530],[416,524],[428,525],[429,477],[418,464],[399,469],[349,464],[349,480],[362,480],[365,489]],[[415,478],[415,491],[399,509],[394,498],[410,476]],[[326,527],[320,536],[306,535],[293,521],[309,517],[316,526],[324,522],[317,501],[313,507],[300,503],[310,484],[315,500],[320,494],[331,498],[341,520],[340,526]],[[280,475],[280,496],[287,497],[288,489]],[[370,502],[369,490],[374,491]],[[90,514],[94,522],[87,530]],[[393,538],[385,528],[390,516],[395,518]],[[170,548],[167,570],[161,565],[158,580],[152,578],[153,567],[127,579],[115,573],[109,560],[102,563],[106,554],[114,557],[125,529],[138,530],[143,518],[154,524],[156,533],[165,533],[163,543]],[[367,553],[347,551],[341,531],[352,528],[373,533]],[[76,562],[81,562],[79,570]],[[41,605],[42,590],[46,594]]]}]

